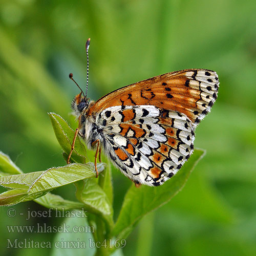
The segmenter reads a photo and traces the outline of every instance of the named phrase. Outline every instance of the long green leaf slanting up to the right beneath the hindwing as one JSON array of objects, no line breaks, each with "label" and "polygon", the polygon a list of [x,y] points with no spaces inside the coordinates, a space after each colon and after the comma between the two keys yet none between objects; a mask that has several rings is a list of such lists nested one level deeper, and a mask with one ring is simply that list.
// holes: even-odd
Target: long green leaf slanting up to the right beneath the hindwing
[{"label": "long green leaf slanting up to the right beneath the hindwing", "polygon": [[112,236],[126,238],[136,223],[148,212],[172,199],[185,185],[195,165],[203,157],[203,150],[195,150],[182,170],[159,187],[134,185],[127,191]]}]

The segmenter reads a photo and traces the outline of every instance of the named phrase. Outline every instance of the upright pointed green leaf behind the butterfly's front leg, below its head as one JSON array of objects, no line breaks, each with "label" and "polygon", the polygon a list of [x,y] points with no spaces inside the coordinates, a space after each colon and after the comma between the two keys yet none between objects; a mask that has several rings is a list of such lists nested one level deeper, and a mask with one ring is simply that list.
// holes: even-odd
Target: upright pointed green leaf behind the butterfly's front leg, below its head
[{"label": "upright pointed green leaf behind the butterfly's front leg, below its head", "polygon": [[[55,113],[48,113],[55,136],[62,150],[69,155],[75,132],[70,128],[68,123],[61,116]],[[86,163],[86,147],[81,142],[79,136],[76,137],[75,149],[72,152],[71,160],[77,163]]]}]

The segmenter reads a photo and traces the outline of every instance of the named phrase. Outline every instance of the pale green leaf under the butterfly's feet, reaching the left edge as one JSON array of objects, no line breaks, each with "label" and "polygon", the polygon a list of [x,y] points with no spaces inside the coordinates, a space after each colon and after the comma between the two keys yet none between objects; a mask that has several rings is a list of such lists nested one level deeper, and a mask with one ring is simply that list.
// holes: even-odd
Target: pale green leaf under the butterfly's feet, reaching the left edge
[{"label": "pale green leaf under the butterfly's feet, reaching the left edge", "polygon": [[[102,172],[104,166],[105,164],[103,163],[98,164],[98,171]],[[95,174],[94,163],[73,163],[62,167],[50,168],[42,172],[0,177],[0,185],[7,188],[15,188],[0,195],[0,205],[12,205],[33,200],[56,187],[92,178],[95,177]]]}]

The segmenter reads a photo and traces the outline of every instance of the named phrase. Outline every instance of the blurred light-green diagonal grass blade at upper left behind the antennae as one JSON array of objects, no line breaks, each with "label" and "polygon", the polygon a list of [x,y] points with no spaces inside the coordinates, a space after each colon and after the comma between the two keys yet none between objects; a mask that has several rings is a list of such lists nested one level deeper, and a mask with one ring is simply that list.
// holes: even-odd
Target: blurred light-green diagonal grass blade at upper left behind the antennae
[{"label": "blurred light-green diagonal grass blade at upper left behind the antennae", "polygon": [[[44,67],[20,51],[2,26],[0,38],[1,62],[11,71],[12,76],[19,77],[19,80],[32,89],[34,94],[43,97],[44,101],[50,105],[50,109],[58,110],[61,114],[67,113],[67,95],[57,86]],[[27,97],[30,98],[26,95]]]}]

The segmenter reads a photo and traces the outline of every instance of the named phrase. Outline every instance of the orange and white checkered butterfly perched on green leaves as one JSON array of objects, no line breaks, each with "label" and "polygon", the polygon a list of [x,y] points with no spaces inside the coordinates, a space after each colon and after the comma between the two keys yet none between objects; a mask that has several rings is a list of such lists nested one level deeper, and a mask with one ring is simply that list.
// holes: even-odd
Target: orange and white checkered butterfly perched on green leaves
[{"label": "orange and white checkered butterfly perched on green leaves", "polygon": [[186,69],[130,84],[96,102],[81,91],[72,102],[79,120],[76,135],[97,148],[96,158],[102,147],[135,185],[158,186],[193,153],[195,129],[218,88],[216,72]]}]

